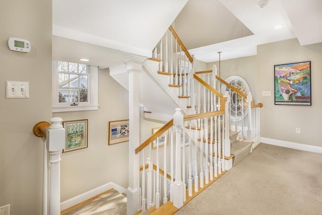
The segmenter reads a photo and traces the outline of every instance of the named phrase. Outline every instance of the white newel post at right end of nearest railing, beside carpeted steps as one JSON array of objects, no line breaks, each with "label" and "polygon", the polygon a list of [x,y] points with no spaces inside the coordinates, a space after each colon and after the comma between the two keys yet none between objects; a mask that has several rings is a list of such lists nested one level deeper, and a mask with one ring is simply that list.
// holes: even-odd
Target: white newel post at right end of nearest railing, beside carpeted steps
[{"label": "white newel post at right end of nearest railing, beside carpeted steps", "polygon": [[[229,103],[230,103],[230,95],[229,92],[225,92],[225,97],[227,98],[225,102],[225,157],[230,156],[230,139],[229,139]],[[226,163],[226,170],[232,168],[232,159],[225,162]]]}]

